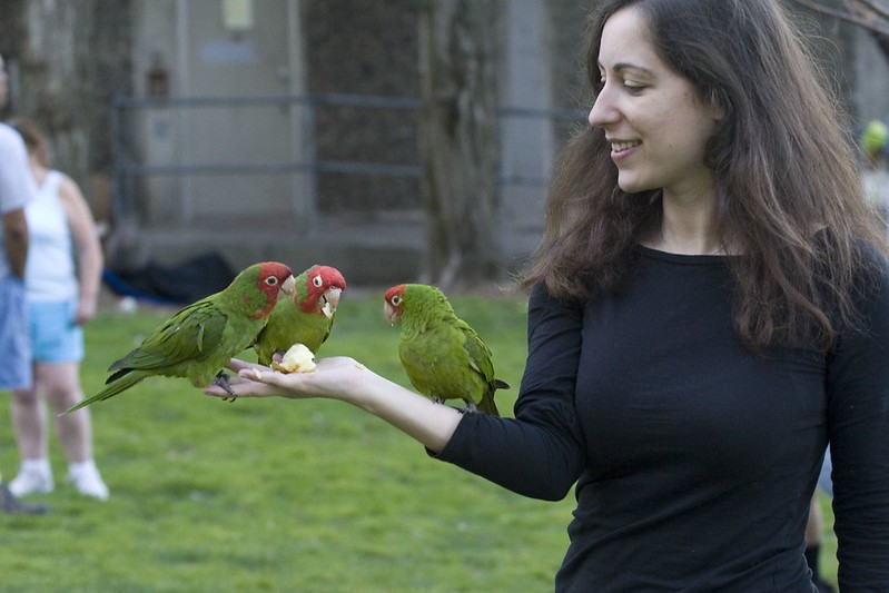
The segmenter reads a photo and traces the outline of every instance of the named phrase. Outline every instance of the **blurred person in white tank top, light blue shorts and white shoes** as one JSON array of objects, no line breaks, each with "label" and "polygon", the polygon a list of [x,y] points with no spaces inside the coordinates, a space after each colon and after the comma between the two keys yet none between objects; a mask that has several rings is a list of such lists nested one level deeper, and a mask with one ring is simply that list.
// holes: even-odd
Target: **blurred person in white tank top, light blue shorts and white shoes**
[{"label": "blurred person in white tank top, light blue shorts and white shoes", "polygon": [[[9,490],[24,496],[52,492],[55,487],[41,397],[47,398],[56,414],[83,397],[81,326],[96,314],[102,253],[80,188],[67,175],[49,168],[43,138],[30,120],[20,118],[13,127],[28,147],[31,172],[39,189],[37,199],[24,211],[31,230],[26,288],[34,383],[29,389],[13,391],[11,401],[12,425],[22,462]],[[68,480],[81,494],[107,500],[108,486],[92,458],[89,412],[81,409],[60,416],[57,428],[68,457]]]}]

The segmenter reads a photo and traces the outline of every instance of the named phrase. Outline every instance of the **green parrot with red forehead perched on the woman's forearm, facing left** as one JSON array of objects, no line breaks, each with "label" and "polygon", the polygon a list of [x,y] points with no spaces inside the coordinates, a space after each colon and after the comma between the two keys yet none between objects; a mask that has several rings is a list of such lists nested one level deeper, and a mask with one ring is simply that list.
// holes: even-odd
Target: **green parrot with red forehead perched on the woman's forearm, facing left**
[{"label": "green parrot with red forehead perched on the woman's forearm, facing left", "polygon": [[414,387],[434,402],[463,399],[467,412],[498,416],[494,392],[510,386],[494,378],[491,350],[444,294],[425,284],[402,284],[384,298],[386,320],[402,325],[398,356]]}]

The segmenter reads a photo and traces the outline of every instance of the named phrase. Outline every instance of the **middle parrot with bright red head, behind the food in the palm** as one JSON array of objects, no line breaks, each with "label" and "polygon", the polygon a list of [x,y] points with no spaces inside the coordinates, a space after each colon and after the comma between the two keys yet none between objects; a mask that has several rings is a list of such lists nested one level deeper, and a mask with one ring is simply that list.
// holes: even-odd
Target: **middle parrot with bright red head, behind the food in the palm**
[{"label": "middle parrot with bright red head, behind the food in the palm", "polygon": [[277,304],[256,338],[257,362],[268,366],[276,353],[284,354],[294,344],[303,344],[317,354],[330,335],[345,289],[345,278],[332,266],[312,266],[297,276],[294,297]]}]

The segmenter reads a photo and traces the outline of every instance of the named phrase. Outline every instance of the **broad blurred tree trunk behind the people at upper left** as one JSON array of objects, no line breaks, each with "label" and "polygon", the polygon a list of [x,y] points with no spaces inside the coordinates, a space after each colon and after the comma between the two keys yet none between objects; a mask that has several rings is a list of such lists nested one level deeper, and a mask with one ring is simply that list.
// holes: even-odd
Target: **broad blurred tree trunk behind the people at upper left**
[{"label": "broad blurred tree trunk behind the people at upper left", "polygon": [[[73,177],[97,218],[107,217],[115,93],[131,95],[130,0],[3,0],[4,51],[18,80],[11,116],[41,128],[50,165]],[[14,28],[13,28],[14,27]],[[105,191],[102,191],[105,188]]]}]

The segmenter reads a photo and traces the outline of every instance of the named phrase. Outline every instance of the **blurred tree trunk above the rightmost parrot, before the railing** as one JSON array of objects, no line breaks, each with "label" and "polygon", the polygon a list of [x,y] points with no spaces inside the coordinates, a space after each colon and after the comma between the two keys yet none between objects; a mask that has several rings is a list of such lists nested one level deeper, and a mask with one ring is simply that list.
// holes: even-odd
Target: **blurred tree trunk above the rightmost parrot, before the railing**
[{"label": "blurred tree trunk above the rightmost parrot, before the railing", "polygon": [[496,0],[432,0],[419,11],[424,281],[447,290],[497,275]]}]

